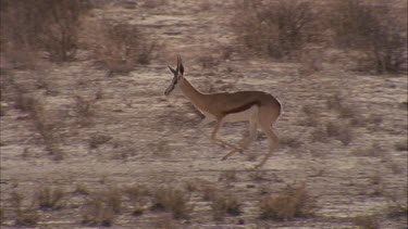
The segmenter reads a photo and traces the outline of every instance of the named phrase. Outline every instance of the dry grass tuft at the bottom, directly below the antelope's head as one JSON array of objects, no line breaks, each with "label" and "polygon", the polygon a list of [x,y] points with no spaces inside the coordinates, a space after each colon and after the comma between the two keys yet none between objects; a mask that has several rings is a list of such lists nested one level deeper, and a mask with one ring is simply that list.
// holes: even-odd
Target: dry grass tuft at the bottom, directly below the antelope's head
[{"label": "dry grass tuft at the bottom, directly below the antelope's head", "polygon": [[174,218],[189,218],[191,206],[188,205],[189,195],[182,189],[159,187],[153,193],[152,206],[154,211],[169,211]]}]

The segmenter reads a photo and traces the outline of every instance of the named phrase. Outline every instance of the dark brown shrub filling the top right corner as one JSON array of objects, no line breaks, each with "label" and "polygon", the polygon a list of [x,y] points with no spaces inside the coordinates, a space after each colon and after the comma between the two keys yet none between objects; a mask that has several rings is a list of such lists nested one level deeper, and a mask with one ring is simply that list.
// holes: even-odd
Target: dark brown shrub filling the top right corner
[{"label": "dark brown shrub filling the top right corner", "polygon": [[386,1],[338,0],[330,13],[334,40],[362,51],[361,69],[398,73],[407,69],[407,27]]}]

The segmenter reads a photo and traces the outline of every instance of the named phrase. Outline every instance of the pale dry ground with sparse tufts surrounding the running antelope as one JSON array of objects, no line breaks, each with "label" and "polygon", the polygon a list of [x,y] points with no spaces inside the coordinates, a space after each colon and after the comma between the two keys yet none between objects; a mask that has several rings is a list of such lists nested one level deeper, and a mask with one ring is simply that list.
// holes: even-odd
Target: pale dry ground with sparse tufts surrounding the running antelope
[{"label": "pale dry ground with sparse tufts surrounding the running antelope", "polygon": [[[160,47],[150,64],[110,75],[86,51],[1,63],[1,228],[407,228],[406,74],[350,71],[336,49],[311,50],[312,67],[237,51],[234,1],[132,2],[92,14],[138,25]],[[261,168],[263,133],[221,161],[212,125],[203,135],[186,98],[164,97],[177,54],[201,91],[281,101],[281,143]],[[219,136],[236,143],[247,127]],[[299,213],[269,217],[268,200]]]}]

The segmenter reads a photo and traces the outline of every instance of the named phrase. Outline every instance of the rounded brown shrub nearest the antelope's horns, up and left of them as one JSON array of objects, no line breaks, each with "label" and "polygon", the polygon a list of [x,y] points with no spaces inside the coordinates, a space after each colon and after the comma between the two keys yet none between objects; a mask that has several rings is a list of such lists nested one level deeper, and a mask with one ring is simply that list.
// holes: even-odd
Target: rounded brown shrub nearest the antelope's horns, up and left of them
[{"label": "rounded brown shrub nearest the antelope's horns, up and left of them", "polygon": [[128,73],[138,64],[150,63],[157,46],[148,41],[137,26],[89,20],[85,27],[86,43],[109,75]]}]

